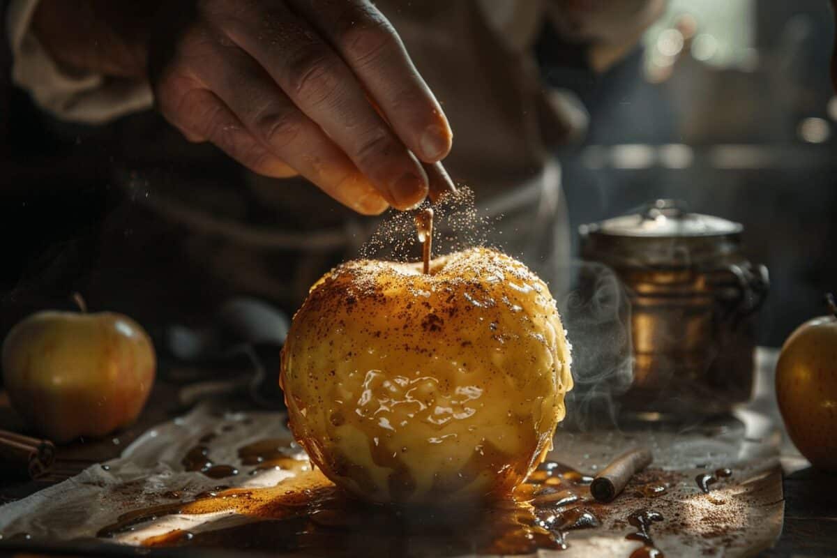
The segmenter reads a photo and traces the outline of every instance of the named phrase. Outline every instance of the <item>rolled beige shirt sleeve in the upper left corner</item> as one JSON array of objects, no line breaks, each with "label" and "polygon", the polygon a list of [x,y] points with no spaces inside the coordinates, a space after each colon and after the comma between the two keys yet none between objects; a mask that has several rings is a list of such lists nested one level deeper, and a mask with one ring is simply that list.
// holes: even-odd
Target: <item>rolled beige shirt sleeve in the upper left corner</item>
[{"label": "rolled beige shirt sleeve in the upper left corner", "polygon": [[151,107],[151,88],[146,82],[74,74],[59,67],[31,29],[38,2],[9,3],[7,24],[14,84],[28,91],[43,110],[61,120],[82,124],[102,124]]}]

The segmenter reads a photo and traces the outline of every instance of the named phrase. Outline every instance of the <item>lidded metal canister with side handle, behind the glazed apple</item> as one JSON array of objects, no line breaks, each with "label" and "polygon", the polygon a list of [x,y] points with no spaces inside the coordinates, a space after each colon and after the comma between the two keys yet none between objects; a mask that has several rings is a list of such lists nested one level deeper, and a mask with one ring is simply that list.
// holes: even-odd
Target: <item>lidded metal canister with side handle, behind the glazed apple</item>
[{"label": "lidded metal canister with side handle, behind the glazed apple", "polygon": [[744,256],[742,231],[672,200],[581,227],[583,258],[614,269],[630,300],[624,410],[707,415],[749,399],[768,269]]}]

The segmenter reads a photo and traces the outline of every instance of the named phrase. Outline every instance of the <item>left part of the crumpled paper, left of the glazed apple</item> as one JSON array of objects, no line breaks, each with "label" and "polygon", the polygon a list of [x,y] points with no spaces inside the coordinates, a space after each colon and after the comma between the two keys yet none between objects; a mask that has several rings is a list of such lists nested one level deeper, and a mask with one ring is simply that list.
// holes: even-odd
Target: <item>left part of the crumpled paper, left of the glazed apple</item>
[{"label": "left part of the crumpled paper, left of the glazed apple", "polygon": [[[182,491],[188,497],[218,485],[274,486],[293,474],[269,469],[251,476],[247,474],[249,468],[239,467],[242,470],[237,476],[209,479],[198,472],[184,471],[181,461],[190,448],[208,445],[214,463],[238,466],[238,448],[248,443],[265,438],[290,441],[286,422],[287,417],[280,412],[224,413],[200,405],[142,434],[121,457],[92,465],[71,479],[0,507],[0,535],[8,538],[25,533],[33,540],[84,539],[94,537],[100,528],[131,509],[177,501],[164,496],[168,491]],[[217,438],[201,444],[200,438],[208,433],[216,433]],[[296,457],[307,461],[305,454],[298,452]],[[148,536],[172,529],[199,530],[199,525],[226,513],[166,516],[111,541],[139,544]]]}]

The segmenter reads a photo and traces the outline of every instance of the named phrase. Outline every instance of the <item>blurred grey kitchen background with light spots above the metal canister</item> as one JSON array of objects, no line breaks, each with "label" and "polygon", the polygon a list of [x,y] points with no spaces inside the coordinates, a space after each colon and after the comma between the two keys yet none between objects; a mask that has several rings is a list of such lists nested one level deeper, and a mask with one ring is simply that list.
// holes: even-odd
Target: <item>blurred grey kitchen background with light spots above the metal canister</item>
[{"label": "blurred grey kitchen background with light spots above the metal canister", "polygon": [[770,269],[761,344],[824,314],[837,289],[833,21],[819,0],[672,0],[602,79],[542,64],[590,112],[583,146],[562,156],[573,231],[681,199],[742,223],[747,255]]}]

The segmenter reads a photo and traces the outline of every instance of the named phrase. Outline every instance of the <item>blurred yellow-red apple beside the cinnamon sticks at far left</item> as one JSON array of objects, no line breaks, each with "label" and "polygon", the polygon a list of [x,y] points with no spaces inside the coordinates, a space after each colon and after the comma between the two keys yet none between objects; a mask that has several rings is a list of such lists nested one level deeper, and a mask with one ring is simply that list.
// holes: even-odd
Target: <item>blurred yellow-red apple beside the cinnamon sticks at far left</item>
[{"label": "blurred yellow-red apple beside the cinnamon sticks at far left", "polygon": [[155,372],[145,330],[110,312],[39,312],[3,342],[3,382],[13,407],[57,443],[130,425]]}]

